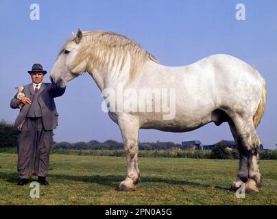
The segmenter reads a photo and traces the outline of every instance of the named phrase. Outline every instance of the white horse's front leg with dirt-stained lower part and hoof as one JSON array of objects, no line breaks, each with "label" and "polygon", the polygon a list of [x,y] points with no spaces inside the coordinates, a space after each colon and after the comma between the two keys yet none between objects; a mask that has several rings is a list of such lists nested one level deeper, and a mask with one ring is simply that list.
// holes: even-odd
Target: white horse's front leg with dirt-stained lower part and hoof
[{"label": "white horse's front leg with dirt-stained lower part and hoof", "polygon": [[124,149],[128,162],[127,177],[119,185],[119,191],[134,190],[139,184],[139,122],[136,118],[125,118],[119,121],[119,127],[123,138]]}]

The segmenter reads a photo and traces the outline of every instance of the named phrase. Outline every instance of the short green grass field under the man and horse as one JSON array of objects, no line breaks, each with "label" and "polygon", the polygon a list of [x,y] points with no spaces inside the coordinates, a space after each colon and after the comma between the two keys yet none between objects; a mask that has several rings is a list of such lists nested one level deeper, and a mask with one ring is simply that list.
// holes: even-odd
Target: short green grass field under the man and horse
[{"label": "short green grass field under the man and horse", "polygon": [[0,153],[0,205],[277,204],[277,161],[261,161],[263,189],[245,198],[228,191],[237,160],[141,157],[139,166],[139,188],[118,192],[125,179],[124,157],[52,154],[50,185],[40,186],[40,198],[30,198],[29,185],[16,185],[16,154]]}]

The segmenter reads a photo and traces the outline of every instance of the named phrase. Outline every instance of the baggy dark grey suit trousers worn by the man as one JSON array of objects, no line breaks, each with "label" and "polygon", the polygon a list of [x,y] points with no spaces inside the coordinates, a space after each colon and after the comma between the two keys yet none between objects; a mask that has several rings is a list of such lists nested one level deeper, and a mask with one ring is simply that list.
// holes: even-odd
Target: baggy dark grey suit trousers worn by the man
[{"label": "baggy dark grey suit trousers worn by the man", "polygon": [[53,130],[45,131],[43,118],[25,118],[17,140],[17,172],[20,179],[46,177]]}]

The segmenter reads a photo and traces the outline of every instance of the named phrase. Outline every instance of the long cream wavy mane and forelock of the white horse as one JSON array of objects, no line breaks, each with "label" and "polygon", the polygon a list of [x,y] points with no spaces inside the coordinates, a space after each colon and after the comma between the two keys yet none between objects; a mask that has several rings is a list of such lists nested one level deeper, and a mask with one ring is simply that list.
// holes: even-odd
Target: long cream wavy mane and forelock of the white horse
[{"label": "long cream wavy mane and forelock of the white horse", "polygon": [[[130,78],[132,79],[139,73],[143,64],[148,60],[158,63],[156,57],[148,53],[130,38],[121,34],[111,31],[83,31],[82,36],[80,49],[72,68],[88,57],[88,62],[93,66],[91,70],[95,68],[108,70],[108,66],[112,61],[112,66],[116,65],[119,67],[119,71],[121,71],[127,61],[128,55],[130,55]],[[64,49],[73,40],[75,40],[75,36],[71,36],[67,40],[59,55],[64,52]],[[117,63],[115,63],[116,61]]]}]

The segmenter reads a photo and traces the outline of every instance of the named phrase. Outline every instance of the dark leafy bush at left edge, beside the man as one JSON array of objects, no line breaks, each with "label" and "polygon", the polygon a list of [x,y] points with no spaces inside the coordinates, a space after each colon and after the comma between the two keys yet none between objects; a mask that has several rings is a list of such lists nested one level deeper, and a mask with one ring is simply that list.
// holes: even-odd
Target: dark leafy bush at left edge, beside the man
[{"label": "dark leafy bush at left edge, beside the man", "polygon": [[16,146],[19,131],[5,120],[0,122],[0,147]]}]

